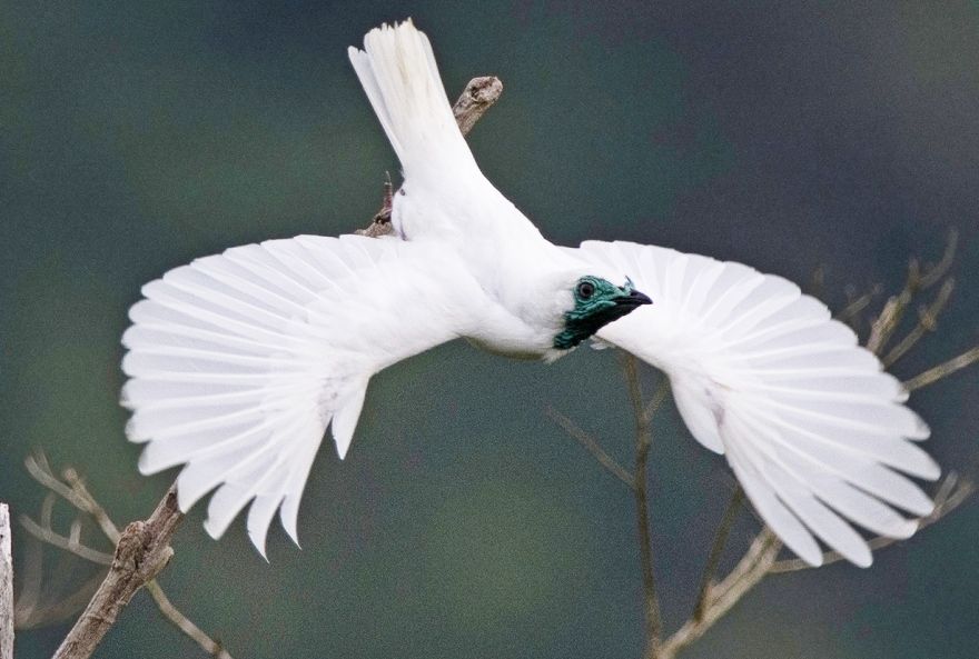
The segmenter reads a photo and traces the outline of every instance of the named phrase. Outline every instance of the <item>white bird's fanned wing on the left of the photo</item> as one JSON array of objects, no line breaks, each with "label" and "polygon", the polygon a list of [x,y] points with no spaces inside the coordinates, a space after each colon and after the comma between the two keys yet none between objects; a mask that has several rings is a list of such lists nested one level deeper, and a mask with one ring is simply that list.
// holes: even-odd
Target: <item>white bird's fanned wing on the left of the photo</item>
[{"label": "white bird's fanned wing on the left of the photo", "polygon": [[182,510],[218,487],[218,538],[251,501],[264,552],[271,518],[296,539],[299,498],[327,425],[347,451],[367,381],[448,341],[478,299],[451,254],[396,239],[303,236],[229,249],[142,288],[122,337],[139,467],[186,463]]}]

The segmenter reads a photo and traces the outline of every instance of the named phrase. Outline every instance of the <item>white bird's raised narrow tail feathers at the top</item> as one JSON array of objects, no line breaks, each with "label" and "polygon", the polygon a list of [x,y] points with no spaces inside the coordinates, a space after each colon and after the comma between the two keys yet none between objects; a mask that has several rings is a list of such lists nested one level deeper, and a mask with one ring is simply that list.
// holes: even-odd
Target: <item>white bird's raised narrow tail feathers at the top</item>
[{"label": "white bird's raised narrow tail feathers at the top", "polygon": [[411,19],[384,24],[350,47],[350,63],[406,178],[436,179],[476,167],[452,112],[428,38]]}]

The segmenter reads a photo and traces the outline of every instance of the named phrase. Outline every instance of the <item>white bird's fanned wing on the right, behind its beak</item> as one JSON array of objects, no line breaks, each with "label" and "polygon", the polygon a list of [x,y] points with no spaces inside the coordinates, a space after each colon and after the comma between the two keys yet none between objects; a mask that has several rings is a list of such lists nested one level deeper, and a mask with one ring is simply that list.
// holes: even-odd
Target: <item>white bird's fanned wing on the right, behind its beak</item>
[{"label": "white bird's fanned wing on the right, behind its beak", "polygon": [[576,251],[653,299],[599,337],[666,372],[690,431],[726,456],[758,512],[807,562],[821,562],[817,536],[869,566],[867,543],[846,520],[906,538],[917,525],[891,506],[931,511],[899,473],[938,478],[913,443],[928,427],[823,303],[740,263],[630,242]]}]

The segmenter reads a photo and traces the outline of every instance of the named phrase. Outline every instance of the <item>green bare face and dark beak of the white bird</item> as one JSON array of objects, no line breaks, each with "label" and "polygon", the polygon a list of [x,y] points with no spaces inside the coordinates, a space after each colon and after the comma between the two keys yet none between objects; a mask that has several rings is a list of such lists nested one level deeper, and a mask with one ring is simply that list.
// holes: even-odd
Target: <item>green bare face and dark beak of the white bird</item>
[{"label": "green bare face and dark beak of the white bird", "polygon": [[615,286],[606,279],[586,274],[571,290],[574,306],[564,312],[564,328],[554,337],[554,348],[570,350],[602,327],[653,301],[635,290],[632,280]]}]

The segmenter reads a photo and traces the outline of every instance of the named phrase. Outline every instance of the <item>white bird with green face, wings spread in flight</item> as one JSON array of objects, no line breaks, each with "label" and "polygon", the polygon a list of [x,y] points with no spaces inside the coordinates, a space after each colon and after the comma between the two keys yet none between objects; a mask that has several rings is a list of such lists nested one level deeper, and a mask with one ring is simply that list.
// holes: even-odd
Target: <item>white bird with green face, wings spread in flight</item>
[{"label": "white bird with green face, wings spread in flight", "polygon": [[939,476],[914,443],[928,427],[824,304],[740,263],[548,242],[479,171],[425,34],[383,26],[349,57],[403,167],[395,234],[236,247],[146,284],[129,312],[122,402],[129,439],[148,442],[139,468],[186,465],[185,511],[217,488],[212,537],[250,502],[263,555],[279,509],[296,540],[327,427],[343,458],[370,377],[459,337],[553,361],[594,336],[662,369],[696,440],[811,565],[819,538],[869,566],[851,523],[907,538],[917,525],[894,508],[932,510],[906,476]]}]

